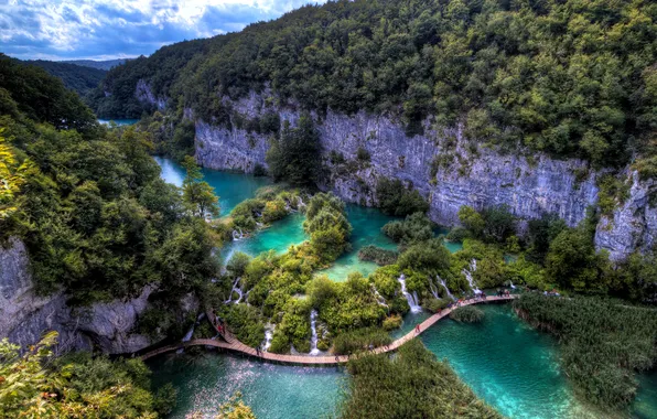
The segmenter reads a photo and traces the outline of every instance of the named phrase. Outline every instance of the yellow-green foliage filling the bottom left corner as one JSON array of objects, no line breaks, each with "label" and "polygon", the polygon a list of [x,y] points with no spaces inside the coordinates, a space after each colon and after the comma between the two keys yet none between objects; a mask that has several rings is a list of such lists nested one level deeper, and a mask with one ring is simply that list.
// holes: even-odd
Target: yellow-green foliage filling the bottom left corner
[{"label": "yellow-green foliage filling the bottom left corner", "polygon": [[140,359],[109,361],[76,353],[54,359],[50,332],[20,354],[0,342],[0,416],[3,418],[147,418],[166,415],[175,389],[150,393],[150,370]]}]

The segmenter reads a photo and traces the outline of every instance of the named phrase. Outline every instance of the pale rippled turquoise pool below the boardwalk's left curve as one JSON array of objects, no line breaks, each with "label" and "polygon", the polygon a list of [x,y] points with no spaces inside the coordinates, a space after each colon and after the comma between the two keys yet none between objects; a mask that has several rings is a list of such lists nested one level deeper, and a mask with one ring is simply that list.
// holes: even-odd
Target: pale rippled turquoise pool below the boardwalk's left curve
[{"label": "pale rippled turquoise pool below the boardwalk's left curve", "polygon": [[172,383],[179,390],[170,418],[201,411],[213,418],[235,391],[259,419],[334,417],[346,375],[337,368],[261,364],[215,352],[200,356],[168,355],[148,363],[153,385]]}]

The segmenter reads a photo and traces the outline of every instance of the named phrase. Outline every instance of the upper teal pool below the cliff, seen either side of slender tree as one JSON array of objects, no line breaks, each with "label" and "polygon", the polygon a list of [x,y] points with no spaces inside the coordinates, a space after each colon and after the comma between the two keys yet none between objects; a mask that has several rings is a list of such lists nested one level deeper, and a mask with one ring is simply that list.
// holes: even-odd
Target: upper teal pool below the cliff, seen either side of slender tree
[{"label": "upper teal pool below the cliff, seen either side of slender tree", "polygon": [[[154,157],[162,168],[162,179],[176,186],[183,184],[186,172],[183,166],[171,159]],[[217,170],[202,169],[204,181],[215,189],[219,196],[220,215],[228,215],[233,208],[244,200],[254,197],[259,187],[270,185],[269,178],[256,178],[250,174],[220,172]]]}]

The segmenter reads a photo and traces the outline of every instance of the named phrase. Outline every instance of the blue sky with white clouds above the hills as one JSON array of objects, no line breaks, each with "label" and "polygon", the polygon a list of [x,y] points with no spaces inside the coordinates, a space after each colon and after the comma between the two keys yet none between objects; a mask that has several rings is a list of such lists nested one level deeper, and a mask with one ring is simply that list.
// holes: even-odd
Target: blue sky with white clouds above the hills
[{"label": "blue sky with white clouds above the hills", "polygon": [[21,60],[150,55],[323,0],[0,0],[0,52]]}]

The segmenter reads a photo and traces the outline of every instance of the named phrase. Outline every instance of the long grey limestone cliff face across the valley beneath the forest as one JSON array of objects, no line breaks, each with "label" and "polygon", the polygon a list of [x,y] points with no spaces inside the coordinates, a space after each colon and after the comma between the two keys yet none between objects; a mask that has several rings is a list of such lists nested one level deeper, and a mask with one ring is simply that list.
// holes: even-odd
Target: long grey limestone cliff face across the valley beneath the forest
[{"label": "long grey limestone cliff face across the valley beneath the forest", "polygon": [[[281,122],[295,125],[300,117],[297,106],[269,105],[274,101],[266,90],[230,106],[246,118],[274,111]],[[430,203],[431,218],[443,225],[457,224],[462,205],[482,210],[506,204],[521,219],[554,213],[575,226],[586,207],[597,202],[599,173],[589,170],[585,161],[554,160],[541,153],[505,154],[468,141],[461,127],[437,131],[426,122],[423,135],[408,137],[403,125],[388,116],[328,110],[313,117],[330,169],[321,186],[348,202],[376,205],[375,190],[381,176],[399,179],[420,191]],[[267,165],[268,147],[266,136],[196,121],[196,159],[204,166],[252,172],[256,164]],[[357,162],[359,149],[369,153],[369,162]],[[346,163],[332,164],[332,152],[342,154]],[[596,245],[608,249],[614,260],[654,243],[657,223],[648,189],[636,182],[614,221],[603,221],[599,227]]]}]

